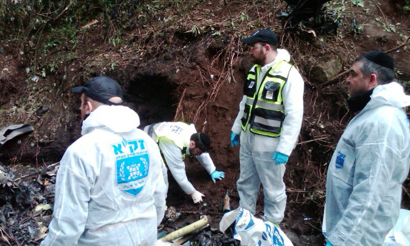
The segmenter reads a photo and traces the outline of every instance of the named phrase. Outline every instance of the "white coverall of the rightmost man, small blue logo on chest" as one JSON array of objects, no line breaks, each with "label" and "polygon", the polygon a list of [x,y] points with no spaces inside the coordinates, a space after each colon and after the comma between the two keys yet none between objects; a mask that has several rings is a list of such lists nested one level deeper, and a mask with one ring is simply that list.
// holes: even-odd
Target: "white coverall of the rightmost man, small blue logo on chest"
[{"label": "white coverall of the rightmost man, small blue logo on chest", "polygon": [[326,179],[327,239],[335,246],[382,245],[399,216],[410,163],[410,96],[396,82],[376,87],[349,122]]}]

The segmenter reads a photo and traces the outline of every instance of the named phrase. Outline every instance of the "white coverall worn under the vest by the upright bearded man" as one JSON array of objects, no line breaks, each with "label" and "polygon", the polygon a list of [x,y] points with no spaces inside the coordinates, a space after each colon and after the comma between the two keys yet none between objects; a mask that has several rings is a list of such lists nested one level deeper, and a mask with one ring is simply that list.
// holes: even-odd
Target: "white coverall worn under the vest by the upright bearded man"
[{"label": "white coverall worn under the vest by the upright bearded man", "polygon": [[[290,61],[288,51],[278,49],[272,63],[263,66],[257,81],[257,90],[264,74],[278,60]],[[283,174],[285,165],[275,165],[272,160],[275,151],[290,155],[298,139],[303,117],[303,79],[299,72],[292,68],[288,81],[283,86],[282,98],[284,106],[283,131],[280,137],[257,135],[241,130],[241,118],[247,97],[244,95],[239,104],[239,113],[232,127],[232,132],[240,134],[240,175],[237,181],[239,206],[255,214],[260,183],[264,194],[264,215],[271,222],[280,222],[286,207],[285,184]]]}]

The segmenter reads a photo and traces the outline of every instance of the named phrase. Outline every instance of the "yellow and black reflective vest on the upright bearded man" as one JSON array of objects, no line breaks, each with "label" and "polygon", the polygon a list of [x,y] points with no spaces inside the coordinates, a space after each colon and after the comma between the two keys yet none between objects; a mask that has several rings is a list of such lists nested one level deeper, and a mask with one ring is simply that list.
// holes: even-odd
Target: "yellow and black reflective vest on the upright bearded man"
[{"label": "yellow and black reflective vest on the upright bearded man", "polygon": [[247,96],[241,119],[243,131],[246,131],[250,124],[249,129],[253,133],[271,137],[280,136],[284,119],[282,89],[292,67],[285,60],[278,61],[266,72],[259,88],[256,86],[260,66],[252,67],[243,87],[244,94]]}]

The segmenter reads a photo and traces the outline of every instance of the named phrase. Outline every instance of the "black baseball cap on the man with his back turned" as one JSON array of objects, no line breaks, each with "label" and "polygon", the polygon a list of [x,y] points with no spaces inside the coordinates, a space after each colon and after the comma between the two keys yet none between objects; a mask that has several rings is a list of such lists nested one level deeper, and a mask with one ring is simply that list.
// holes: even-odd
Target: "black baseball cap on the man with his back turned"
[{"label": "black baseball cap on the man with his back turned", "polygon": [[107,76],[93,77],[84,86],[74,87],[71,91],[74,93],[84,93],[91,99],[106,105],[118,105],[108,100],[111,97],[118,96],[124,99],[118,83]]}]

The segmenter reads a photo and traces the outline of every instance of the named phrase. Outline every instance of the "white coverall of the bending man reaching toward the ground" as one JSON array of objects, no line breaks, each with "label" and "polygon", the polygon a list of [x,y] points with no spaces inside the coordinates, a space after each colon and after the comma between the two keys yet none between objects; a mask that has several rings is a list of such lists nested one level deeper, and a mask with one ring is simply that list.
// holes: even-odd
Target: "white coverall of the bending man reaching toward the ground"
[{"label": "white coverall of the bending man reaching toward the ground", "polygon": [[[191,135],[194,133],[197,133],[194,124],[188,125],[183,122],[161,122],[158,124],[155,124],[153,126],[152,130],[152,139],[156,141],[157,135],[155,134],[156,129],[158,128],[159,125],[161,124],[166,124],[168,127],[172,126],[179,126],[183,132],[186,134],[181,134],[181,137],[183,137],[183,141],[185,142],[185,145],[187,146],[187,151],[186,154],[189,153],[189,143],[190,143],[190,138]],[[148,133],[149,126],[144,128],[144,131]],[[192,186],[192,183],[188,180],[187,173],[185,171],[185,163],[183,162],[182,158],[182,153],[181,149],[175,145],[173,141],[168,139],[167,137],[161,137],[158,142],[159,149],[161,150],[165,162],[167,163],[168,168],[171,171],[172,176],[174,179],[177,181],[179,187],[185,192],[186,194],[190,195],[193,192],[195,192],[194,186]],[[213,173],[216,168],[214,165],[214,162],[211,159],[211,156],[209,153],[203,153],[201,155],[195,156],[195,158],[199,161],[201,166],[207,170],[209,174]],[[167,169],[165,168],[162,171],[164,175],[164,179],[168,180],[168,175],[167,175]],[[168,191],[168,181],[166,181],[167,184],[167,191]]]}]

